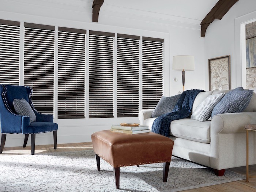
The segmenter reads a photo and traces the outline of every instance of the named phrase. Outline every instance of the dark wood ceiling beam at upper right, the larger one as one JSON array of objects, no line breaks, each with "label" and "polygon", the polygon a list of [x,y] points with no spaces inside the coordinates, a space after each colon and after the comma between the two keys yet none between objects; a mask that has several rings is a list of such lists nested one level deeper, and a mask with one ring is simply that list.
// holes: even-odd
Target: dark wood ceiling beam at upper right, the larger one
[{"label": "dark wood ceiling beam at upper right, the larger one", "polygon": [[214,21],[214,19],[222,19],[237,1],[238,0],[219,0],[200,24],[201,37],[205,37],[207,27]]}]

